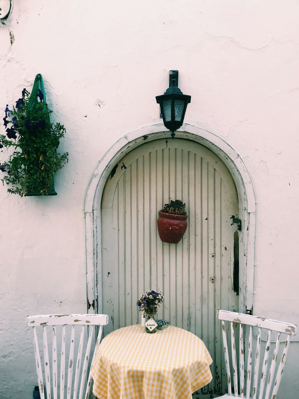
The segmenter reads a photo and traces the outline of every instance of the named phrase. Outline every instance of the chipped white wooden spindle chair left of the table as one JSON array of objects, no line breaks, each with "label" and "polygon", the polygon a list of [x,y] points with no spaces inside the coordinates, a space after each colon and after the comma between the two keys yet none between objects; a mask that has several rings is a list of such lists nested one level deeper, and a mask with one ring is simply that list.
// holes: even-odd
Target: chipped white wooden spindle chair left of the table
[{"label": "chipped white wooden spindle chair left of the table", "polygon": [[[27,326],[33,328],[34,350],[35,350],[35,363],[39,385],[39,392],[41,399],[57,399],[58,385],[60,385],[59,399],[87,399],[90,397],[91,390],[91,375],[90,371],[94,361],[96,350],[100,344],[103,326],[108,324],[107,314],[46,314],[27,317]],[[78,340],[75,339],[76,325],[81,326],[81,333]],[[51,326],[51,328],[48,328]],[[58,328],[56,327],[58,326]],[[69,327],[67,327],[69,326]],[[87,328],[89,333],[87,334]],[[39,352],[38,346],[38,330],[42,330],[43,354]],[[80,329],[80,328],[79,328]],[[51,330],[52,342],[52,372],[50,373],[49,350],[47,341],[47,330]],[[71,336],[68,340],[66,332],[71,330]],[[98,330],[98,331],[96,331]],[[57,354],[57,334],[61,334],[61,356]],[[40,333],[41,335],[41,333]],[[97,338],[95,339],[94,337]],[[88,336],[88,339],[87,339]],[[86,338],[86,339],[85,339]],[[41,338],[40,338],[41,341]],[[67,342],[69,341],[69,347]],[[78,342],[77,342],[78,341]],[[95,344],[94,344],[95,343]],[[94,345],[94,350],[91,348]],[[67,345],[67,346],[66,346]],[[74,357],[75,348],[77,358]],[[67,363],[67,381],[65,374],[65,359],[66,352],[69,348],[69,361]],[[76,353],[75,352],[75,353]],[[91,353],[91,355],[90,355]],[[43,356],[44,369],[41,365],[41,357]],[[92,360],[90,363],[90,357]],[[81,366],[83,360],[83,365]],[[60,361],[60,384],[58,382],[57,364]],[[74,361],[76,365],[74,366]],[[89,375],[87,377],[89,369]],[[43,379],[43,372],[45,376],[45,384]],[[51,374],[52,374],[52,387],[51,387]],[[75,380],[73,382],[73,374]],[[65,393],[65,385],[67,382],[67,389]],[[51,393],[53,396],[51,396]],[[46,396],[45,396],[46,394]],[[83,396],[84,395],[84,396]]]}]

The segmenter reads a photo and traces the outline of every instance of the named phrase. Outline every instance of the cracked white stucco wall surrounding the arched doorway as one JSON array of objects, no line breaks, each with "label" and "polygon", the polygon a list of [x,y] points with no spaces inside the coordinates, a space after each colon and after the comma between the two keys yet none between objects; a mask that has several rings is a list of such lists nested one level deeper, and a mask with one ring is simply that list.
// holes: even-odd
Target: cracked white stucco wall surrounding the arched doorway
[{"label": "cracked white stucco wall surrounding the arched doorway", "polygon": [[[169,69],[191,95],[185,122],[224,138],[254,182],[254,313],[299,323],[298,16],[295,0],[14,2],[0,25],[0,110],[4,117],[41,73],[53,117],[67,129],[60,150],[69,163],[56,175],[57,197],[0,187],[0,398],[32,397],[26,316],[87,310],[90,177],[116,140],[161,122],[155,96]],[[299,393],[298,356],[293,342],[281,398]]]}]

